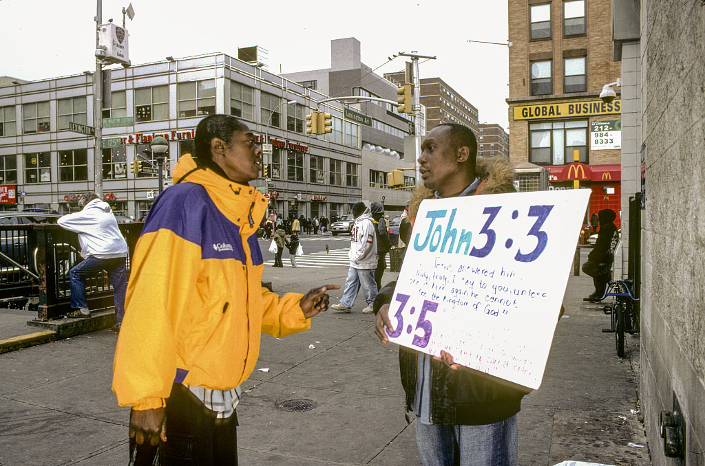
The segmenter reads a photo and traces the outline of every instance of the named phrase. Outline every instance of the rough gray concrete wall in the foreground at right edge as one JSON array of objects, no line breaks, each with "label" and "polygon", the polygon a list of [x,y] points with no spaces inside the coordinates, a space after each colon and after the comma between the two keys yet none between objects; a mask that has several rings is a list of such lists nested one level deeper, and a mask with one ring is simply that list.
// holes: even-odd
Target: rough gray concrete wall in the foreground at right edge
[{"label": "rough gray concrete wall in the foreground at right edge", "polygon": [[[705,465],[705,6],[642,0],[641,393],[653,464]],[[678,400],[685,459],[663,454]]]}]

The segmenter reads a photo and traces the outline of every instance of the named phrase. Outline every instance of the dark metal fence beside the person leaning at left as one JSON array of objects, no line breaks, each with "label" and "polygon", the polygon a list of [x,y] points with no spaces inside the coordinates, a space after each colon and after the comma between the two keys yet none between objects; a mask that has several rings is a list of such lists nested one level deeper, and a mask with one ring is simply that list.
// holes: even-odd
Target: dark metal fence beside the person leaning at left
[{"label": "dark metal fence beside the person leaning at left", "polygon": [[[130,258],[142,232],[142,222],[121,223]],[[37,317],[49,320],[71,310],[68,271],[82,260],[78,235],[59,225],[0,225],[0,298],[38,298]],[[86,282],[90,309],[113,305],[105,272]]]}]

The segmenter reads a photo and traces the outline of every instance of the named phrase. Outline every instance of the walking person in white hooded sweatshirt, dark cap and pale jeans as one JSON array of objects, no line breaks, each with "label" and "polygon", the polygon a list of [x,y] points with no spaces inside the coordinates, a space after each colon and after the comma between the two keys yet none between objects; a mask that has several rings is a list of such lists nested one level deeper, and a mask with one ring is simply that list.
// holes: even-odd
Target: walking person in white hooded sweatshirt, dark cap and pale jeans
[{"label": "walking person in white hooded sweatshirt, dark cap and pale jeans", "polygon": [[350,313],[353,303],[357,297],[357,292],[362,287],[364,301],[367,301],[367,308],[363,313],[374,313],[372,305],[377,297],[377,284],[374,281],[374,270],[377,268],[377,239],[374,234],[374,220],[369,207],[358,202],[353,206],[353,216],[355,224],[350,232],[350,268],[348,278],[345,279],[345,291],[341,302],[333,304],[331,309],[342,310]]}]

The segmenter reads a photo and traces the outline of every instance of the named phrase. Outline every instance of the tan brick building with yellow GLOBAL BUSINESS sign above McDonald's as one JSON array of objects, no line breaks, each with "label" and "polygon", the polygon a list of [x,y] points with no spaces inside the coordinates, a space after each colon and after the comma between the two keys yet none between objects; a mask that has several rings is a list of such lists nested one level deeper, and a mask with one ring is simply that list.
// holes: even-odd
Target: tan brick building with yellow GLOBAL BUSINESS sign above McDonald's
[{"label": "tan brick building with yellow GLOBAL BUSINESS sign above McDonald's", "polygon": [[587,217],[611,208],[620,225],[621,99],[599,98],[620,75],[611,0],[508,1],[510,160],[548,168],[549,189],[579,181]]}]

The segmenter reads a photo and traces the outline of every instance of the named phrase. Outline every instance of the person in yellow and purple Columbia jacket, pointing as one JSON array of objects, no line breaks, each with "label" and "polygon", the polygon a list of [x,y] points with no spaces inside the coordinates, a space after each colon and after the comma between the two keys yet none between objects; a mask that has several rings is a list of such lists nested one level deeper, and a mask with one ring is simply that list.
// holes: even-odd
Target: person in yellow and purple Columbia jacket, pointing
[{"label": "person in yellow and purple Columbia jacket, pointing", "polygon": [[238,386],[255,367],[260,332],[308,329],[328,308],[326,290],[339,288],[279,296],[262,287],[256,232],[267,201],[248,184],[261,170],[247,126],[210,115],[149,212],[114,361],[118,403],[132,406],[133,462],[158,454],[166,465],[237,465]]}]

